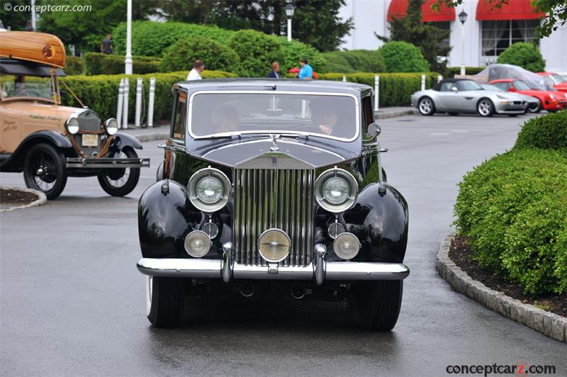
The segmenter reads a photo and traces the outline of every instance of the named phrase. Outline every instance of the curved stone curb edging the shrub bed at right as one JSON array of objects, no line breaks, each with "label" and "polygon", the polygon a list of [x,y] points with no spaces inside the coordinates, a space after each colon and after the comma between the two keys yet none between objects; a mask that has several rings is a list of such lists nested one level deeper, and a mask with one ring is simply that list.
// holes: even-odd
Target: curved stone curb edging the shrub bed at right
[{"label": "curved stone curb edging the shrub bed at right", "polygon": [[504,317],[511,318],[522,325],[546,334],[560,342],[567,343],[567,318],[524,304],[520,300],[506,296],[504,293],[488,288],[476,281],[456,266],[449,258],[449,248],[455,233],[449,234],[439,247],[435,268],[455,291],[476,300],[486,308],[494,310]]}]

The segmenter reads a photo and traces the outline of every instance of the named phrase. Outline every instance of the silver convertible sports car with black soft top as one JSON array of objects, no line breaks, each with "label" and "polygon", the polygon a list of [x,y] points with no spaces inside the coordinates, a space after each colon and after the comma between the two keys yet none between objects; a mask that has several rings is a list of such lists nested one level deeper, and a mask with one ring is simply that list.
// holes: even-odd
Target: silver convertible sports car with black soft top
[{"label": "silver convertible sports car with black soft top", "polygon": [[478,113],[480,116],[525,113],[527,103],[507,93],[487,91],[469,79],[444,79],[432,89],[412,94],[412,106],[424,116],[434,113]]}]

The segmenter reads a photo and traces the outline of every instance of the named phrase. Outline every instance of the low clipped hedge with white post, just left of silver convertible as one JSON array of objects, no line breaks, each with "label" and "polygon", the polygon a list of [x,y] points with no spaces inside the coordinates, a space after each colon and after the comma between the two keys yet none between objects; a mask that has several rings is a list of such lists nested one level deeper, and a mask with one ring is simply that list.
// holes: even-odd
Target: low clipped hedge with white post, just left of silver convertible
[{"label": "low clipped hedge with white post, just left of silver convertible", "polygon": [[[421,89],[421,75],[421,73],[381,73],[380,95],[378,98],[380,106],[408,106],[411,95]],[[321,79],[333,81],[342,81],[343,76],[347,78],[347,81],[359,82],[374,88],[374,73],[320,74]],[[426,89],[437,84],[437,76],[438,74],[434,72],[425,73]]]}]

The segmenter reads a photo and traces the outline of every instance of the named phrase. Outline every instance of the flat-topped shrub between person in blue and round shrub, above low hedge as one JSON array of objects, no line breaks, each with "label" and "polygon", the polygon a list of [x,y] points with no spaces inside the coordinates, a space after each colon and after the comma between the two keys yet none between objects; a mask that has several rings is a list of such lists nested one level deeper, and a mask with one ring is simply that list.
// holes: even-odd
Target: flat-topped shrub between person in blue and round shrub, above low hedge
[{"label": "flat-topped shrub between person in blue and round shrub, above low hedge", "polygon": [[385,72],[386,64],[378,50],[332,51],[322,54],[327,60],[320,72]]}]

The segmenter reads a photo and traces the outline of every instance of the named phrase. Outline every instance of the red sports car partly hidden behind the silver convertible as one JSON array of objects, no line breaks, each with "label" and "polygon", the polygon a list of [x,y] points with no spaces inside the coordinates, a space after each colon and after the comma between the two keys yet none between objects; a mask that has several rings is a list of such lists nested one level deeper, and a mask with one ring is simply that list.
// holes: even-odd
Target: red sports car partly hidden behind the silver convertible
[{"label": "red sports car partly hidden behind the silver convertible", "polygon": [[567,108],[567,93],[561,91],[547,91],[530,88],[524,81],[519,79],[499,79],[490,81],[488,84],[498,86],[505,91],[513,91],[539,99],[539,106],[532,113],[539,113],[542,109],[553,113]]}]

